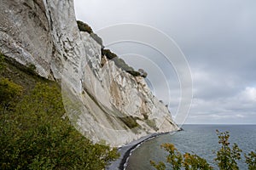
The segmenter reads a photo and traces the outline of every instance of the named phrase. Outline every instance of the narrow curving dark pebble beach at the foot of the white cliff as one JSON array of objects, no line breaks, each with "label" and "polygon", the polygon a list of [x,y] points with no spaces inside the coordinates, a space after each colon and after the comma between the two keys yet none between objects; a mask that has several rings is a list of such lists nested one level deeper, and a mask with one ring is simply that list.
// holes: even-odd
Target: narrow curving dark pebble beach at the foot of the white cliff
[{"label": "narrow curving dark pebble beach at the foot of the white cliff", "polygon": [[166,132],[166,133],[153,133],[153,134],[148,134],[147,136],[137,139],[136,141],[131,142],[131,144],[122,146],[119,148],[119,153],[120,157],[119,159],[110,162],[110,165],[106,167],[106,170],[124,170],[125,167],[127,167],[127,163],[129,161],[129,157],[131,156],[131,153],[133,150],[136,150],[137,147],[139,147],[141,144],[144,142],[147,142],[150,139],[154,139],[160,135],[168,134],[168,133],[174,133],[178,132],[177,131],[172,131],[172,132]]}]

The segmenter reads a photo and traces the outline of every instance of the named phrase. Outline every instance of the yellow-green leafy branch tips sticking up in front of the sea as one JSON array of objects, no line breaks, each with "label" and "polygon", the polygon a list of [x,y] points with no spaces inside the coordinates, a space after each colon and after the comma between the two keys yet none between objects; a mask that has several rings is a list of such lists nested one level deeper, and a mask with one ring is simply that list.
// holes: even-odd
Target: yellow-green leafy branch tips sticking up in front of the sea
[{"label": "yellow-green leafy branch tips sticking up in front of the sea", "polygon": [[[217,156],[214,159],[218,164],[218,168],[220,170],[236,170],[239,169],[237,166],[237,160],[241,159],[241,149],[235,143],[230,148],[230,133],[220,133],[217,130],[218,134],[218,144],[221,144],[221,148],[217,151]],[[182,154],[177,151],[174,144],[162,144],[161,148],[164,148],[168,152],[168,156],[166,157],[166,162],[169,163],[173,170],[180,170],[182,167],[185,170],[210,170],[213,167],[210,166],[209,163],[200,156],[191,155],[189,153]],[[246,163],[249,170],[256,169],[256,153],[250,152],[248,155],[245,155]],[[158,169],[165,170],[166,164],[163,161],[159,163],[155,163],[154,161],[150,161],[150,164]]]}]

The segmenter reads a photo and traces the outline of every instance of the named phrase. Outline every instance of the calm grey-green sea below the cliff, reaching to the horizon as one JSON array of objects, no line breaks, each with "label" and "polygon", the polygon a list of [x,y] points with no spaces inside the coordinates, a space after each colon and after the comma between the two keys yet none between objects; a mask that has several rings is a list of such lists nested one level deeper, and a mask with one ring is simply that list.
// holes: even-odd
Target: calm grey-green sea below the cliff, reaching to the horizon
[{"label": "calm grey-green sea below the cliff, reaching to the horizon", "polygon": [[[230,145],[238,144],[242,150],[241,161],[238,166],[241,170],[247,169],[244,154],[256,151],[256,125],[183,125],[183,131],[163,134],[140,144],[131,152],[126,170],[154,169],[149,161],[165,161],[167,153],[160,148],[161,144],[172,143],[182,154],[193,153],[205,158],[214,169],[218,169],[214,158],[219,149],[218,135],[220,132],[230,132]],[[168,168],[170,169],[170,168]]]}]

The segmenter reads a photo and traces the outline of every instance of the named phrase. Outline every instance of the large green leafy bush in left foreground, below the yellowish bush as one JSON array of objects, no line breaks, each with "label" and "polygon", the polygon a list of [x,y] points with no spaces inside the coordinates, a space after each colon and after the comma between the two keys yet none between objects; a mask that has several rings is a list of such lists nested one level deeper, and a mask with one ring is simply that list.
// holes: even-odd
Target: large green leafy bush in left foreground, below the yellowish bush
[{"label": "large green leafy bush in left foreground, below the yellowish bush", "polygon": [[61,118],[65,110],[56,86],[38,83],[16,108],[1,116],[1,169],[102,169],[118,157]]}]

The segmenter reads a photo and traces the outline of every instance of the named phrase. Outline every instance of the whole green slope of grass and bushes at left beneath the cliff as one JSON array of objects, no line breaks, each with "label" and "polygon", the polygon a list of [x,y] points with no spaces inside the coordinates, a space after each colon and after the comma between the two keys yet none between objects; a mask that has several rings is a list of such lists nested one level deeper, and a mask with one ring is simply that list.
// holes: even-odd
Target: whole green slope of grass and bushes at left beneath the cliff
[{"label": "whole green slope of grass and bushes at left beneath the cliff", "polygon": [[103,169],[119,156],[74,129],[56,82],[3,55],[0,68],[0,169]]}]

